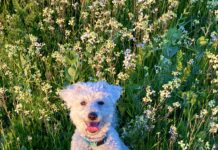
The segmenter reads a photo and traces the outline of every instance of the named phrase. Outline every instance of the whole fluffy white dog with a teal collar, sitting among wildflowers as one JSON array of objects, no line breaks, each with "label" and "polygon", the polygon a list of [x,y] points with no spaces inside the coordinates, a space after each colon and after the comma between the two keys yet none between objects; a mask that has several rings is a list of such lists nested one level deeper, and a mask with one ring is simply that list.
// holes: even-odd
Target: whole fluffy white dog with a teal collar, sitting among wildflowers
[{"label": "whole fluffy white dog with a teal collar, sitting among wildflowers", "polygon": [[60,92],[76,126],[71,150],[128,150],[113,127],[121,90],[99,81],[79,82]]}]

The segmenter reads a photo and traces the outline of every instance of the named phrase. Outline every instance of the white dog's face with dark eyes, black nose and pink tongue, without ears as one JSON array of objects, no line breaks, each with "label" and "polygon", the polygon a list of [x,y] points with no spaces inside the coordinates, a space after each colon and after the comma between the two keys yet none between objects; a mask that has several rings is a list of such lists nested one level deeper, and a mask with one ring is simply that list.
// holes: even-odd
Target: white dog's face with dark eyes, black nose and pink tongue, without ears
[{"label": "white dog's face with dark eyes, black nose and pink tongue, without ears", "polygon": [[114,114],[114,104],[104,96],[84,96],[75,100],[70,109],[70,117],[76,128],[85,135],[106,132]]}]

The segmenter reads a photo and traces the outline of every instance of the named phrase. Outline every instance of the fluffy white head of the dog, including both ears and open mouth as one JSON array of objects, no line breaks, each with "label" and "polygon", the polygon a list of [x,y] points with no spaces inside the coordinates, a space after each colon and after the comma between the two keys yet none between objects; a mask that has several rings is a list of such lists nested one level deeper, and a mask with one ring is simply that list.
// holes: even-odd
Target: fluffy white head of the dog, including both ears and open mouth
[{"label": "fluffy white head of the dog, including both ears and open mouth", "polygon": [[79,82],[60,91],[70,117],[81,134],[105,134],[110,127],[121,87],[105,81]]}]

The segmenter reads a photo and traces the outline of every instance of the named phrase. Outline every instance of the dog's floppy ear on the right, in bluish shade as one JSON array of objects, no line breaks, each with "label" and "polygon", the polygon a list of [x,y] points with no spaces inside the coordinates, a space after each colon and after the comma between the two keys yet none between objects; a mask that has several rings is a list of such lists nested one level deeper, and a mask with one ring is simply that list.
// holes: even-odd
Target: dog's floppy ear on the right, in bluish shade
[{"label": "dog's floppy ear on the right, in bluish shade", "polygon": [[122,94],[122,88],[117,85],[110,85],[109,92],[111,94],[111,99],[115,104]]}]

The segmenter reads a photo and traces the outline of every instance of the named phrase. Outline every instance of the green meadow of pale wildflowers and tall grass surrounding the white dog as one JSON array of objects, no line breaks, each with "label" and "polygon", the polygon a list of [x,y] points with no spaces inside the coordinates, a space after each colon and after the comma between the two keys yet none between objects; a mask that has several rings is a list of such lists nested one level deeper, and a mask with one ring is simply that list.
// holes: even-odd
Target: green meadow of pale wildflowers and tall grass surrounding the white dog
[{"label": "green meadow of pale wildflowers and tall grass surrounding the white dog", "polygon": [[217,0],[0,0],[0,149],[67,150],[63,87],[123,87],[133,150],[218,149]]}]

